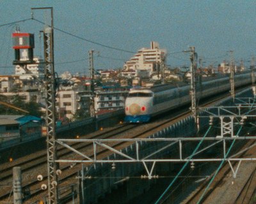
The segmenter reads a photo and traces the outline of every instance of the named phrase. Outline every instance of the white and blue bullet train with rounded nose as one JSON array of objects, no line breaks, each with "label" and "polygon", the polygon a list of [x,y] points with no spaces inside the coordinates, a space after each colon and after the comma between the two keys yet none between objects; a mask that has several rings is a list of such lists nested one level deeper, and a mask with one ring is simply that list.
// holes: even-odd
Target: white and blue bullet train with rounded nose
[{"label": "white and blue bullet train with rounded nose", "polygon": [[[234,77],[235,87],[252,82],[250,73]],[[191,103],[190,85],[157,85],[150,88],[131,89],[125,99],[125,122],[148,122],[151,117],[173,108]],[[206,98],[230,90],[230,78],[222,77],[202,82],[196,98]]]}]

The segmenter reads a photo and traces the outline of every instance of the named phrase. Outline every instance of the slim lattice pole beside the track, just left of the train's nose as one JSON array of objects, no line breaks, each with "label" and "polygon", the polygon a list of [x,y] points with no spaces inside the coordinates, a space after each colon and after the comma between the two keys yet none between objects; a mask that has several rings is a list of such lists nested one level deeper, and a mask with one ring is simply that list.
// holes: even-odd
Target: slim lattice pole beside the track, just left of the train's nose
[{"label": "slim lattice pole beside the track, just left of the train's nose", "polygon": [[94,65],[93,65],[93,52],[94,50],[89,50],[89,68],[90,68],[90,78],[91,78],[91,93],[92,97],[90,98],[90,115],[91,117],[95,117],[95,106],[94,106]]}]

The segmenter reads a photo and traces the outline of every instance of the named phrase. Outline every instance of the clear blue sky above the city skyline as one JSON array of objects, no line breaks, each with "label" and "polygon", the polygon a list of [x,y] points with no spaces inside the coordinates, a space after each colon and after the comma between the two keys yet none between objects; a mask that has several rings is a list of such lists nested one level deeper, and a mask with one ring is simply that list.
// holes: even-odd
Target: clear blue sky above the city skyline
[{"label": "clear blue sky above the city skyline", "polygon": [[[55,27],[87,40],[131,52],[158,41],[170,53],[167,64],[171,66],[189,64],[189,55],[182,53],[189,46],[195,46],[205,65],[229,60],[228,50],[234,50],[236,61],[243,59],[245,64],[256,55],[256,1],[0,0],[0,25],[30,18],[31,8],[46,6],[54,8]],[[35,11],[34,17],[49,22],[45,11]],[[21,32],[35,34],[35,55],[40,55],[38,34],[44,26],[35,20],[18,25]],[[15,25],[0,27],[0,75],[14,71],[13,31]],[[55,69],[59,74],[88,73],[90,49],[95,50],[96,69],[122,67],[132,56],[60,31],[54,31],[54,37]]]}]

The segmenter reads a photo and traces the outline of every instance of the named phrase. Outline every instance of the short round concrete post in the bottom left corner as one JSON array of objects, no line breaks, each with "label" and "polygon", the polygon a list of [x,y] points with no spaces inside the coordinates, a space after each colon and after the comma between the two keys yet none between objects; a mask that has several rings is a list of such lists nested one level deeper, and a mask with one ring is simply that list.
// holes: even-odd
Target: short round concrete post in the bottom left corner
[{"label": "short round concrete post in the bottom left corner", "polygon": [[21,169],[19,166],[13,167],[13,203],[22,204],[22,188],[21,188]]}]

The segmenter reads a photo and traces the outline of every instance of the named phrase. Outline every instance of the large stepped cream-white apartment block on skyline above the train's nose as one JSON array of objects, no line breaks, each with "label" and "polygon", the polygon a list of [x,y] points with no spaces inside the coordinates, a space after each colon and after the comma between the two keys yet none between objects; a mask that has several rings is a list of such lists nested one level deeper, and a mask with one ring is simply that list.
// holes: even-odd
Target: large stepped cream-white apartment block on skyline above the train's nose
[{"label": "large stepped cream-white apartment block on skyline above the train's nose", "polygon": [[166,61],[166,50],[160,49],[155,41],[150,43],[150,48],[141,48],[137,54],[124,64],[124,70],[147,70],[149,75],[157,71],[157,66]]}]

